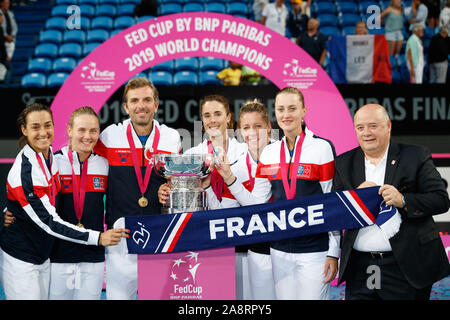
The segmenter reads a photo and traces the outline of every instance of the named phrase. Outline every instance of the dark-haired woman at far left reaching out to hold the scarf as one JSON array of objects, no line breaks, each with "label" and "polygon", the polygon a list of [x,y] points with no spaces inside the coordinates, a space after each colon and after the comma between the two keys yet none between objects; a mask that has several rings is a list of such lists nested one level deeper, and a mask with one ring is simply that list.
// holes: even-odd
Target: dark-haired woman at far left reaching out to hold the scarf
[{"label": "dark-haired woman at far left reaching out to hold the scarf", "polygon": [[6,298],[48,299],[50,253],[56,238],[83,245],[109,246],[126,237],[126,229],[99,232],[62,220],[55,209],[59,173],[51,142],[51,110],[34,103],[18,118],[23,146],[7,178],[7,207],[14,222],[0,235],[2,281]]}]

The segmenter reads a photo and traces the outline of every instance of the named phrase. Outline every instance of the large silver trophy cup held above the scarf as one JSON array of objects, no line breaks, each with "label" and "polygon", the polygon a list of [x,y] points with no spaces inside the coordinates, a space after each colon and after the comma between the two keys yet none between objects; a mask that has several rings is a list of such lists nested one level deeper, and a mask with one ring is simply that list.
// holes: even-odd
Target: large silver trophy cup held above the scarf
[{"label": "large silver trophy cup held above the scarf", "polygon": [[156,173],[168,180],[171,189],[162,213],[208,210],[201,179],[213,170],[214,159],[212,154],[153,155]]}]

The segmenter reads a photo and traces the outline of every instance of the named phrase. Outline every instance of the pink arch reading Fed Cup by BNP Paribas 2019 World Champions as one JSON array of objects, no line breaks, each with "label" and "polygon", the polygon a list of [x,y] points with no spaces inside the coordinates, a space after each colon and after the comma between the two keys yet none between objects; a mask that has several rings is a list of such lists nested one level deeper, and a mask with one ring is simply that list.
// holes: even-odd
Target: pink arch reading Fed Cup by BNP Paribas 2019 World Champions
[{"label": "pink arch reading Fed Cup by BNP Paribas 2019 World Champions", "polygon": [[303,49],[254,21],[193,12],[141,22],[108,39],[83,59],[51,105],[54,148],[66,143],[65,126],[74,109],[90,105],[99,112],[137,73],[183,57],[236,61],[260,72],[279,88],[299,88],[305,95],[306,122],[316,135],[331,140],[337,154],[358,145],[344,99]]}]

